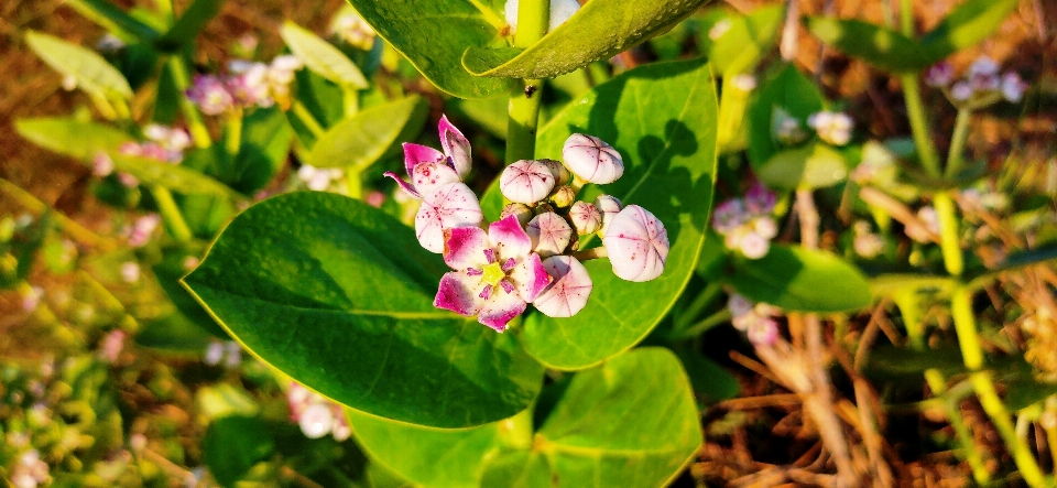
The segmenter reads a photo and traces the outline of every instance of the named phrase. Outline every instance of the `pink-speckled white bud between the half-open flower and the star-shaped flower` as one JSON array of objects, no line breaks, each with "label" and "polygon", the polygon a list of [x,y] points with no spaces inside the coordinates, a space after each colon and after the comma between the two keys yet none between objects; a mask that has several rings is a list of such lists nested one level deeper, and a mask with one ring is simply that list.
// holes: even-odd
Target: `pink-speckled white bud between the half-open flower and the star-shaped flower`
[{"label": "pink-speckled white bud between the half-open flower and the star-shaped flower", "polygon": [[477,227],[482,218],[473,191],[462,183],[448,183],[423,195],[415,215],[415,235],[423,248],[439,253],[444,251],[444,229]]}]

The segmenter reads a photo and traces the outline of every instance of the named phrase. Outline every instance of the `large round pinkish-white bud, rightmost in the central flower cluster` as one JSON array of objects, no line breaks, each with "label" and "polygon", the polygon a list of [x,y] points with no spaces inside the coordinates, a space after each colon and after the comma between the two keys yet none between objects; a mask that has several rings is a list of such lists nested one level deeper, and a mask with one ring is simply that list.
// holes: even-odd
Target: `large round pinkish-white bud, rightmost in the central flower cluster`
[{"label": "large round pinkish-white bud, rightmost in the central flower cluster", "polygon": [[602,238],[613,274],[628,281],[650,281],[664,272],[668,232],[645,208],[629,205],[620,210]]}]

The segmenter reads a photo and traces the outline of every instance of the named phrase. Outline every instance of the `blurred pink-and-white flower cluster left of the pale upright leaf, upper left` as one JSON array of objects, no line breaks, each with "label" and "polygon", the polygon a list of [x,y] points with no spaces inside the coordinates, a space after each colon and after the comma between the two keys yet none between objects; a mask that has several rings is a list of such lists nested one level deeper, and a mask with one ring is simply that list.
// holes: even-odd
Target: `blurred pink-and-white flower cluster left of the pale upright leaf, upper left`
[{"label": "blurred pink-and-white flower cluster left of the pale upright leaf, upper left", "polygon": [[279,56],[271,64],[237,59],[228,63],[227,76],[197,75],[187,98],[203,113],[217,116],[232,109],[291,104],[290,85],[304,63],[293,55]]}]

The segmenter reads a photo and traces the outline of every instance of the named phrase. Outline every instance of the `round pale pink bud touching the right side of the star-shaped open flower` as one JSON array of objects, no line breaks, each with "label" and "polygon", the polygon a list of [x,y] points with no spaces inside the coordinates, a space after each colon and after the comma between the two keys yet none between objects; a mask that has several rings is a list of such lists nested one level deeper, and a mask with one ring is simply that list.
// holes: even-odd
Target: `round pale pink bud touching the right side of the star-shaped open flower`
[{"label": "round pale pink bud touching the right side of the star-shaped open flower", "polygon": [[584,264],[571,256],[553,256],[543,267],[554,281],[532,303],[536,310],[551,317],[571,317],[587,306],[595,284]]}]

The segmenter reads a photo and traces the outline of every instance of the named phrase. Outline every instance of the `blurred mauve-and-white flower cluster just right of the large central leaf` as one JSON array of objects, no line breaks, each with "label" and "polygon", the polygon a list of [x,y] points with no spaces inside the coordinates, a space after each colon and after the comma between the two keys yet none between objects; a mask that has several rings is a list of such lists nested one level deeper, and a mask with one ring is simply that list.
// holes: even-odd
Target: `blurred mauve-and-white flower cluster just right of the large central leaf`
[{"label": "blurred mauve-and-white flower cluster just right of the large central leaf", "polygon": [[749,259],[763,258],[778,234],[771,216],[775,200],[774,192],[754,183],[744,198],[731,198],[716,207],[712,228],[723,236],[728,249],[741,251]]}]

